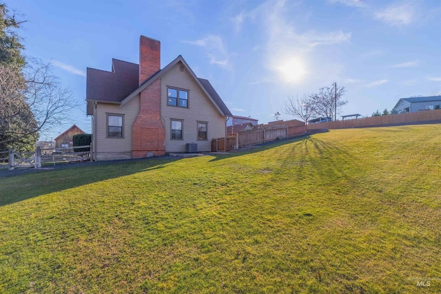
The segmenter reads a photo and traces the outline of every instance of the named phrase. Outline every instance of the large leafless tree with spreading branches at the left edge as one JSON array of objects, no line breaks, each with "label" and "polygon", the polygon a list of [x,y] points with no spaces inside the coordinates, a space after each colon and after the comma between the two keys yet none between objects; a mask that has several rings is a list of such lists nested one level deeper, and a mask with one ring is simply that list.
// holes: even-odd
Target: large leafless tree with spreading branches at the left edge
[{"label": "large leafless tree with spreading branches at the left edge", "polygon": [[45,132],[70,118],[77,107],[49,64],[27,63],[20,72],[0,65],[0,144]]}]

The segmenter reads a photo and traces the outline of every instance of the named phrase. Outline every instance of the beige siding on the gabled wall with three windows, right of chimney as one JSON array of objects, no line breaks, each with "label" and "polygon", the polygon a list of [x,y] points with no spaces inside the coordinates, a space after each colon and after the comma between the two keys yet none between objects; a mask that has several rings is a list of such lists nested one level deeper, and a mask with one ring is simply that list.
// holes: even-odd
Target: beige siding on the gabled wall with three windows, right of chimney
[{"label": "beige siding on the gabled wall with three windows, right of chimney", "polygon": [[[165,151],[185,151],[186,143],[197,143],[198,151],[211,151],[212,138],[225,137],[225,118],[218,112],[203,90],[177,63],[161,78],[161,116],[165,125]],[[167,105],[167,87],[188,90],[188,108]],[[183,140],[171,140],[171,119],[183,120]],[[207,122],[207,140],[198,140],[197,123]]]}]

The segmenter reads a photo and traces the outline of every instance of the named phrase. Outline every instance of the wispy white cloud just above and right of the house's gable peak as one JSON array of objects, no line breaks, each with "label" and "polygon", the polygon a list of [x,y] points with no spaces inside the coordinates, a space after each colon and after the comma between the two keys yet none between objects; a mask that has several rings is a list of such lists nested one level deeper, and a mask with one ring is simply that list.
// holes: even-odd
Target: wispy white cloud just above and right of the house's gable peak
[{"label": "wispy white cloud just above and right of the house's gable peak", "polygon": [[225,70],[233,70],[231,63],[229,62],[229,54],[220,36],[210,34],[203,39],[196,41],[183,41],[183,43],[197,45],[204,48],[205,54],[209,58],[209,63],[218,65]]}]

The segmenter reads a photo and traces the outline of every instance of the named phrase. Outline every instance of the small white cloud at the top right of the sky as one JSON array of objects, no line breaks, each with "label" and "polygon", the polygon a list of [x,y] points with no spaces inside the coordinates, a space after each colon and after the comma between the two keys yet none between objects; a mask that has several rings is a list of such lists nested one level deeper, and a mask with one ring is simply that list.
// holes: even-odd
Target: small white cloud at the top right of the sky
[{"label": "small white cloud at the top right of the sky", "polygon": [[403,26],[409,25],[416,18],[414,3],[404,2],[392,4],[384,10],[377,11],[374,16],[376,19],[389,23],[390,25]]}]

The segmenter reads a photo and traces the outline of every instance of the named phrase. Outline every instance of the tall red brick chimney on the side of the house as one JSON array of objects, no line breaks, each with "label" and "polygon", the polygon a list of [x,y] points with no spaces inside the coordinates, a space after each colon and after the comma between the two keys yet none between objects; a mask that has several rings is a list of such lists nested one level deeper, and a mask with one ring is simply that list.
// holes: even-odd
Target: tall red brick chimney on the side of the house
[{"label": "tall red brick chimney on the side of the house", "polygon": [[[139,85],[161,68],[161,42],[139,39]],[[165,127],[161,120],[161,79],[141,91],[139,114],[132,126],[132,157],[165,154]]]}]

